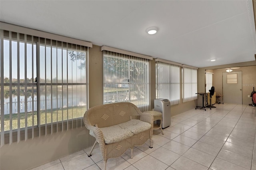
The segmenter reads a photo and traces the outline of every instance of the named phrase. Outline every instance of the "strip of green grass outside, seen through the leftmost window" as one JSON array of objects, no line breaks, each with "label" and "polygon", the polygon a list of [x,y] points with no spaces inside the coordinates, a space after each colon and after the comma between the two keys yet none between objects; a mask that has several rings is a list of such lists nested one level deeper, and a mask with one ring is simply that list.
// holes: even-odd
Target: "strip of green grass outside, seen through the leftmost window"
[{"label": "strip of green grass outside, seen through the leftmost window", "polygon": [[[86,111],[86,106],[76,106],[71,108],[60,108],[51,110],[40,111],[40,125],[46,123],[54,123],[58,121],[65,121],[70,119],[76,119],[84,116]],[[25,113],[20,113],[20,128],[25,127],[27,122],[27,127],[37,125],[37,111],[27,113],[27,121],[25,118]],[[18,128],[18,114],[12,114],[12,129]],[[10,130],[10,115],[4,115],[4,131]]]}]

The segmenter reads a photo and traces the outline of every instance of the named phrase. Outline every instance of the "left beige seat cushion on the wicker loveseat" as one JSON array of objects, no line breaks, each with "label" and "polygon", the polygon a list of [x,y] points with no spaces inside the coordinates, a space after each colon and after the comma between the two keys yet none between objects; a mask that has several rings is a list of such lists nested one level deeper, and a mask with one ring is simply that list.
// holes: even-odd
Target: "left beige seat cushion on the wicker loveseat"
[{"label": "left beige seat cushion on the wicker loveseat", "polygon": [[[123,129],[118,125],[100,128],[100,130],[102,130],[104,141],[106,144],[119,142],[133,135],[130,130]],[[95,134],[91,130],[90,130],[90,135],[95,137]]]}]

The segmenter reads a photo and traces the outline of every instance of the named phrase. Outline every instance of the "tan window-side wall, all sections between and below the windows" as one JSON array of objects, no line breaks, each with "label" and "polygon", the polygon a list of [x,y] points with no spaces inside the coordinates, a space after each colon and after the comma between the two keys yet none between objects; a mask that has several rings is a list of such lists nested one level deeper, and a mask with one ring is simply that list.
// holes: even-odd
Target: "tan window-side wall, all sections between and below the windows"
[{"label": "tan window-side wall, all sections between and below the windows", "polygon": [[[103,103],[103,59],[101,47],[93,45],[89,49],[89,107]],[[156,98],[155,61],[150,61],[150,104],[154,107]],[[204,76],[204,74],[203,74]],[[182,88],[181,88],[182,89]],[[171,107],[171,116],[193,109],[196,101],[180,103]],[[56,160],[83,148],[92,146],[95,139],[83,126],[73,130],[40,136],[19,143],[5,144],[0,152],[0,169],[23,170]],[[14,163],[15,162],[15,163]]]}]

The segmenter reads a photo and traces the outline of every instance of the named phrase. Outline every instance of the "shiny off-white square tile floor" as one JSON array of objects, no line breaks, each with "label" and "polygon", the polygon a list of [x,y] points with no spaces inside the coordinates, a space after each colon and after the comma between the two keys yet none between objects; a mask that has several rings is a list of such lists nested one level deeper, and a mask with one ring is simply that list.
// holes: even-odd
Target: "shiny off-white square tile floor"
[{"label": "shiny off-white square tile floor", "polygon": [[[109,159],[107,170],[256,170],[256,107],[216,104],[212,110],[192,109],[172,117],[170,127],[154,130],[149,142],[121,157]],[[33,170],[100,170],[96,145],[54,160]]]}]

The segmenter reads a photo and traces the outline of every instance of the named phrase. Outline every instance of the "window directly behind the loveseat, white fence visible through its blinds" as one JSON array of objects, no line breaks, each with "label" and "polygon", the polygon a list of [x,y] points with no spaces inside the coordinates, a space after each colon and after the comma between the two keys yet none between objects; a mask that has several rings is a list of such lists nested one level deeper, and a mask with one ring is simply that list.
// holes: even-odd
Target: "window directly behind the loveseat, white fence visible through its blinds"
[{"label": "window directly behind the loveseat, white fence visible through its blinds", "polygon": [[149,59],[104,50],[103,103],[131,102],[150,109]]}]

